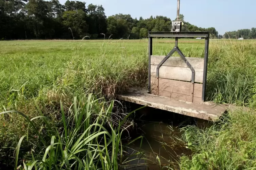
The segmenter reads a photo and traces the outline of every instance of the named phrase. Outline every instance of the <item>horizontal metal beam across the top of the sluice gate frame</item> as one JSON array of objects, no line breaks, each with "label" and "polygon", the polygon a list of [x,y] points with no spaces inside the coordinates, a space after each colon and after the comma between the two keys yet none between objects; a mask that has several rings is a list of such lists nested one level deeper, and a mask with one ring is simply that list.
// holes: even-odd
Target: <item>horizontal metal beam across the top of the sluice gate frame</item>
[{"label": "horizontal metal beam across the top of the sluice gate frame", "polygon": [[149,37],[209,37],[209,32],[149,32]]}]

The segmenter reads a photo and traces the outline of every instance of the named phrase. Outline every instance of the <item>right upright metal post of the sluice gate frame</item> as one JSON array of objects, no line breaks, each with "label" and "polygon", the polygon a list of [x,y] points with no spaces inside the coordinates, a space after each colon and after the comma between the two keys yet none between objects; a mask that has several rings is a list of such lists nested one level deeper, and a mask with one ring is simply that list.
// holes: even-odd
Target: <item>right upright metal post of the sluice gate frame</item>
[{"label": "right upright metal post of the sluice gate frame", "polygon": [[205,38],[205,48],[204,48],[204,73],[203,73],[203,90],[202,90],[202,101],[203,102],[205,102],[208,50],[209,50],[209,33],[208,33],[208,36]]}]

